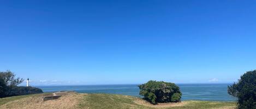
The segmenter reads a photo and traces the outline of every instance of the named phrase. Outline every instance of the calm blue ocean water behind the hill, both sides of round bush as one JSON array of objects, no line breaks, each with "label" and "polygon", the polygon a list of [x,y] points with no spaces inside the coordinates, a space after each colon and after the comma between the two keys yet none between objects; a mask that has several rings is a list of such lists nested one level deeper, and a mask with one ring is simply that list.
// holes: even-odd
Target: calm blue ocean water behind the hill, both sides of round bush
[{"label": "calm blue ocean water behind the hill, both sides of round bush", "polygon": [[[182,100],[235,101],[227,92],[231,84],[177,84]],[[141,97],[138,85],[38,86],[43,92],[76,91],[78,93],[110,93]]]}]

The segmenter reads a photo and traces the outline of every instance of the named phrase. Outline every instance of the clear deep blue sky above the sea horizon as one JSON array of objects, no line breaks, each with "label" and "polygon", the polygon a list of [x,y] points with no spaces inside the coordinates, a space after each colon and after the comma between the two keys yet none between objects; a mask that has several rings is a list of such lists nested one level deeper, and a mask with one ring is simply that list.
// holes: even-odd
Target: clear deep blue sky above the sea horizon
[{"label": "clear deep blue sky above the sea horizon", "polygon": [[0,14],[0,70],[32,85],[227,83],[256,67],[256,1],[0,1]]}]

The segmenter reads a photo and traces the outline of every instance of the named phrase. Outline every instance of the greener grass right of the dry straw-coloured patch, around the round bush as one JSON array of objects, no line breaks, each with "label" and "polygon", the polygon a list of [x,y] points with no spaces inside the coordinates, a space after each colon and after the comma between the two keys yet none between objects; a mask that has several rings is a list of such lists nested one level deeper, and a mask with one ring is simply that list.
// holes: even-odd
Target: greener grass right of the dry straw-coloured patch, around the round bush
[{"label": "greener grass right of the dry straw-coloured patch, around the round bush", "polygon": [[183,101],[186,104],[175,107],[157,107],[151,104],[137,104],[134,101],[143,101],[136,97],[116,94],[88,94],[84,95],[80,101],[79,108],[163,108],[163,109],[205,109],[205,108],[234,108],[235,102],[221,102],[221,101],[196,101],[188,100]]}]

